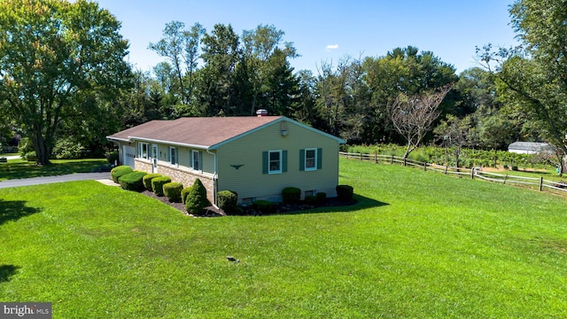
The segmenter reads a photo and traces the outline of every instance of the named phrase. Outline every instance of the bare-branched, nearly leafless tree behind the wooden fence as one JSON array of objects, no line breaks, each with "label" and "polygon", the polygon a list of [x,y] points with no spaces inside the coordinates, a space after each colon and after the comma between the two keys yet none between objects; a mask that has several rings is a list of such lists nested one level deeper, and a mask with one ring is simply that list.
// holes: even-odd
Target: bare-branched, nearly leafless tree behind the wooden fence
[{"label": "bare-branched, nearly leafless tree behind the wooden fence", "polygon": [[393,102],[390,113],[393,126],[407,141],[404,159],[408,158],[409,153],[417,148],[425,134],[431,130],[431,124],[440,114],[439,105],[451,87],[446,85],[411,97],[400,93]]}]

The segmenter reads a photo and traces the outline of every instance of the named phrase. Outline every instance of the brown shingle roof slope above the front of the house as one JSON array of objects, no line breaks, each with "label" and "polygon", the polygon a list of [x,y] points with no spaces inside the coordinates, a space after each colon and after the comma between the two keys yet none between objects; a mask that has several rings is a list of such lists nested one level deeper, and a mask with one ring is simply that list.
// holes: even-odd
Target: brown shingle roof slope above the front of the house
[{"label": "brown shingle roof slope above the front of the house", "polygon": [[210,147],[281,119],[281,116],[181,118],[149,121],[108,136],[113,140],[133,138]]}]

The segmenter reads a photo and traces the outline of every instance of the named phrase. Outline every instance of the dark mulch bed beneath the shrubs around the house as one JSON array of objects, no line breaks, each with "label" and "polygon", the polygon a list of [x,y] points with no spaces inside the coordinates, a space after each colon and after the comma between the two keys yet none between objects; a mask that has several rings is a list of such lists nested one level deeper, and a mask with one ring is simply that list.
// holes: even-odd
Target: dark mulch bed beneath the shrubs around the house
[{"label": "dark mulch bed beneath the shrubs around the house", "polygon": [[[168,205],[168,206],[172,206],[175,209],[179,210],[180,212],[182,212],[183,214],[186,214],[188,216],[192,216],[192,217],[220,217],[220,216],[226,216],[227,214],[224,213],[224,211],[220,208],[216,208],[214,206],[208,206],[205,208],[205,210],[203,211],[203,214],[200,214],[198,216],[193,216],[192,214],[187,213],[187,211],[185,210],[185,205],[183,205],[183,203],[172,203],[169,201],[169,199],[165,196],[157,196],[156,194],[154,194],[152,191],[142,191],[141,194],[150,197],[150,198],[155,198],[159,201],[161,201],[162,203]],[[316,208],[316,207],[337,207],[337,206],[352,206],[356,204],[356,200],[352,199],[352,200],[343,200],[343,199],[339,199],[339,198],[326,198],[324,203],[320,204],[320,205],[306,205],[306,204],[275,204],[274,206],[272,206],[272,210],[268,213],[268,214],[285,214],[285,213],[290,213],[290,212],[300,212],[302,210],[306,210],[306,209],[312,209],[312,208]],[[255,209],[253,209],[252,207],[242,207],[242,209],[238,212],[238,215],[259,215],[260,212],[256,211]]]}]

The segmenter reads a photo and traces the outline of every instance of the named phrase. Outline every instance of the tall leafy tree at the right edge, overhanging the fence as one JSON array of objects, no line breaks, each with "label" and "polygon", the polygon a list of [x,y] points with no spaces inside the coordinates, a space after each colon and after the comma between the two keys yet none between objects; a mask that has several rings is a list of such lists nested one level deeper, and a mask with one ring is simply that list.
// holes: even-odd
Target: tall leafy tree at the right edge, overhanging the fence
[{"label": "tall leafy tree at the right edge, overhanging the fence", "polygon": [[565,153],[567,4],[517,0],[509,12],[523,46],[494,52],[488,45],[481,59],[501,84],[502,98],[539,124],[548,142]]}]

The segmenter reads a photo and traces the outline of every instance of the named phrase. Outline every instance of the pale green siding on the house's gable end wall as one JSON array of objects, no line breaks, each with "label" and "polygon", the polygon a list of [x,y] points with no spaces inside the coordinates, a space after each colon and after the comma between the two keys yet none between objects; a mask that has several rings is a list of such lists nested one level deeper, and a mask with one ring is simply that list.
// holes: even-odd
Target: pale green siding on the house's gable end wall
[{"label": "pale green siding on the house's gable end wall", "polygon": [[[273,123],[219,147],[218,191],[237,191],[238,198],[259,198],[281,195],[288,186],[302,191],[334,189],[338,184],[338,141],[291,122],[287,131],[287,136],[282,136],[280,123]],[[320,168],[300,171],[297,154],[309,148],[317,149]],[[277,150],[282,150],[282,174],[266,174],[268,151]]]}]

